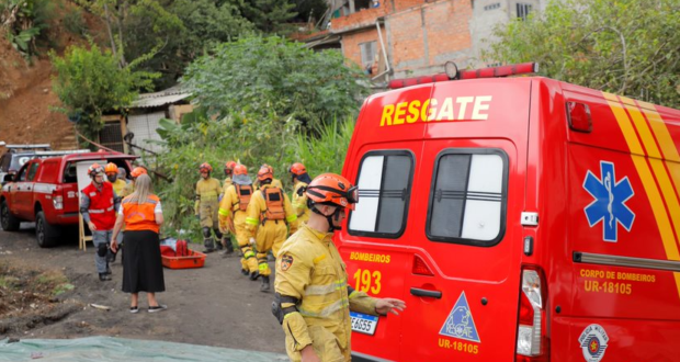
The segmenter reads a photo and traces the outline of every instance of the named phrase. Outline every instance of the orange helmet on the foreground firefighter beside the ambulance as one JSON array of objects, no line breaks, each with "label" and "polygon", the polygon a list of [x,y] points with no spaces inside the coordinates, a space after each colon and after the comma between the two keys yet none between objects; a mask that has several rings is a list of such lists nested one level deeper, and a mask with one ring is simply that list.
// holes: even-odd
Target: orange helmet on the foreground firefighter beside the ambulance
[{"label": "orange helmet on the foreground firefighter beside the ambulance", "polygon": [[316,204],[326,204],[354,210],[359,202],[359,189],[340,174],[317,176],[307,186],[307,197]]}]

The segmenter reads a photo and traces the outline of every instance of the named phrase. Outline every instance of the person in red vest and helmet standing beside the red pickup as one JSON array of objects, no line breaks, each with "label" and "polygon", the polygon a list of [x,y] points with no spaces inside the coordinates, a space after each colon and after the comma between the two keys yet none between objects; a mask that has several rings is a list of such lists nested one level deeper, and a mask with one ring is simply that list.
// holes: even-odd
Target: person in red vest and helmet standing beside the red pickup
[{"label": "person in red vest and helmet standing beside the red pickup", "polygon": [[94,267],[99,273],[99,280],[104,282],[111,280],[109,261],[113,260],[113,256],[109,249],[109,240],[113,234],[115,212],[121,205],[121,199],[113,190],[113,185],[104,182],[106,173],[99,163],[90,166],[88,174],[92,182],[80,192],[80,214],[92,231]]}]

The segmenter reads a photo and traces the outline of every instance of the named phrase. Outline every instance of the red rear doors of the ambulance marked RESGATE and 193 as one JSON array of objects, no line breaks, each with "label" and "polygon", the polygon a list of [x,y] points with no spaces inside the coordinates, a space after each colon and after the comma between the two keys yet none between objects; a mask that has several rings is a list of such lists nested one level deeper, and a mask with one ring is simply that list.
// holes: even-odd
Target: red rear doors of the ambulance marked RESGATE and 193
[{"label": "red rear doors of the ambulance marked RESGATE and 193", "polygon": [[480,79],[367,102],[345,162],[360,202],[341,251],[352,286],[407,309],[355,331],[356,355],[514,359],[530,92],[529,78]]}]

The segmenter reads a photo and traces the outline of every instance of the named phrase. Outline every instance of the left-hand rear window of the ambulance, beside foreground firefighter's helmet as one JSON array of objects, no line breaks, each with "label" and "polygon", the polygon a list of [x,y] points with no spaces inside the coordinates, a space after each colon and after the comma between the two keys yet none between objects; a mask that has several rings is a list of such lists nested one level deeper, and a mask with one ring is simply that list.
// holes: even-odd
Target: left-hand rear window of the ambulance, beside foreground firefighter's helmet
[{"label": "left-hand rear window of the ambulance, beside foreground firefighter's helmet", "polygon": [[350,214],[351,235],[397,238],[404,233],[413,177],[413,156],[385,150],[364,156],[359,169],[359,203]]}]

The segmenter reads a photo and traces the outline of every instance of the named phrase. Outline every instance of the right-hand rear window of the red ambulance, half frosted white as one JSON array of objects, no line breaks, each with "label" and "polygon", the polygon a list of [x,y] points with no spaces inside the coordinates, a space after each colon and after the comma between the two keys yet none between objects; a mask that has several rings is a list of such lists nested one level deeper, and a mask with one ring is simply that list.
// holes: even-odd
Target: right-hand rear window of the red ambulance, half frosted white
[{"label": "right-hand rear window of the red ambulance, half frosted white", "polygon": [[508,157],[498,149],[449,149],[434,166],[428,238],[494,246],[505,233]]}]

